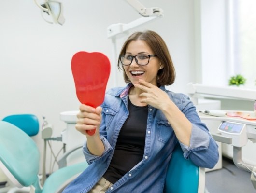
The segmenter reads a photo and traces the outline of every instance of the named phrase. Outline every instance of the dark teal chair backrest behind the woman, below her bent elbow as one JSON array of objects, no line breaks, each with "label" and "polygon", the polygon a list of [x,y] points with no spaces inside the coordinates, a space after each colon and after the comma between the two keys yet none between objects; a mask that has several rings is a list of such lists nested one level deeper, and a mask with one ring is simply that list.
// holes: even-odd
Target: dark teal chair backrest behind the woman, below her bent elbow
[{"label": "dark teal chair backrest behind the woman, below her bent elbow", "polygon": [[204,193],[204,187],[204,168],[186,160],[178,143],[168,166],[165,193]]}]

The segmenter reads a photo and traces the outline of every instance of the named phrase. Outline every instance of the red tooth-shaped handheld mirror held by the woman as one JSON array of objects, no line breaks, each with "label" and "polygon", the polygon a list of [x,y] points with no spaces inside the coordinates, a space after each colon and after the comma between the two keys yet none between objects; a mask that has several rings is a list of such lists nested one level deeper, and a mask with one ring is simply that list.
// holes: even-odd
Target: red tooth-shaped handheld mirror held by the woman
[{"label": "red tooth-shaped handheld mirror held by the woman", "polygon": [[[99,52],[78,52],[72,57],[71,70],[78,100],[82,104],[98,107],[104,100],[110,75],[108,57]],[[95,129],[86,132],[93,135]]]}]

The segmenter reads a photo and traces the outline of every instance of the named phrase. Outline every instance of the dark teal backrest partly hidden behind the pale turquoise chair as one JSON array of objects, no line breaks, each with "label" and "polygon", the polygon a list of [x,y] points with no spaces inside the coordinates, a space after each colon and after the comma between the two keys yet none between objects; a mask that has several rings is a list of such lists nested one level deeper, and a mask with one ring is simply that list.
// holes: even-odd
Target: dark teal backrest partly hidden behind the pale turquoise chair
[{"label": "dark teal backrest partly hidden behind the pale turquoise chair", "polygon": [[29,136],[35,136],[39,132],[38,118],[33,114],[14,114],[4,117],[2,121],[14,124]]}]

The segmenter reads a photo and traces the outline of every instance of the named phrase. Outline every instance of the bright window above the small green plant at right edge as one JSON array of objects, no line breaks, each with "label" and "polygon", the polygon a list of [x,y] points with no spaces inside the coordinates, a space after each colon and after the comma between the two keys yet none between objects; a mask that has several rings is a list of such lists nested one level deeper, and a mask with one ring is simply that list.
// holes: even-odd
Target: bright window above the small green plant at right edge
[{"label": "bright window above the small green plant at right edge", "polygon": [[229,6],[232,71],[247,79],[246,86],[255,87],[256,0],[231,0]]}]

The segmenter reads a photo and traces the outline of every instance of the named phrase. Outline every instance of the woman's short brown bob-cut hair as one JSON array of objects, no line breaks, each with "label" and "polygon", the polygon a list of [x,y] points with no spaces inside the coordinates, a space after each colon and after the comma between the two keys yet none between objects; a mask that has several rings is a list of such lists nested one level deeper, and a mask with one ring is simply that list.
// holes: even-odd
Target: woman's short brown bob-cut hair
[{"label": "woman's short brown bob-cut hair", "polygon": [[[154,31],[143,31],[143,32],[135,32],[132,35],[128,37],[126,42],[124,43],[120,54],[124,55],[126,53],[126,48],[128,44],[131,41],[135,40],[143,40],[147,43],[147,45],[152,49],[154,52],[153,54],[156,54],[159,58],[160,62],[163,65],[163,69],[158,70],[157,74],[157,85],[171,85],[174,83],[175,80],[175,68],[173,66],[171,55],[169,53],[169,50],[167,48],[166,43],[164,40]],[[118,69],[123,69],[123,66],[121,68],[122,64],[120,60],[118,59]],[[125,73],[124,70],[124,80],[126,83],[130,83],[130,80],[128,79],[128,76]]]}]

